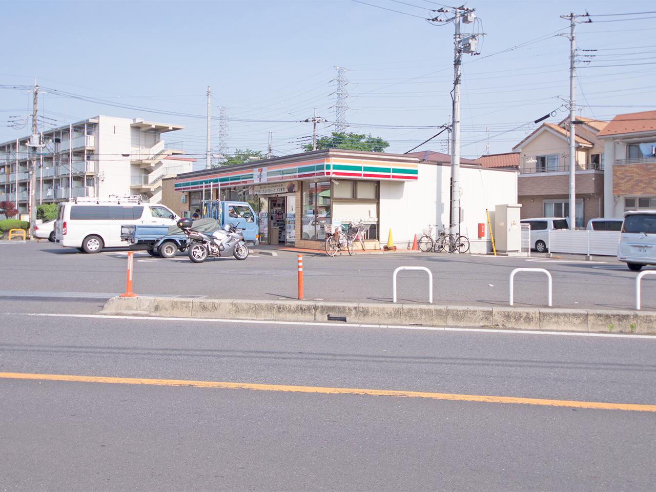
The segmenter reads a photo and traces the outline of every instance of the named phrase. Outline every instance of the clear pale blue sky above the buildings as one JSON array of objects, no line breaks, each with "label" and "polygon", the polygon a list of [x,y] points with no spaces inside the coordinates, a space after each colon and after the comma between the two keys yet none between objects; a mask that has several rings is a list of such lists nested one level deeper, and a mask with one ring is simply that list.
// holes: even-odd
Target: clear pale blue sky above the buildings
[{"label": "clear pale blue sky above the buildings", "polygon": [[[314,108],[335,121],[341,66],[349,131],[381,136],[387,152],[402,154],[451,115],[453,24],[424,20],[437,1],[362,1],[3,1],[0,142],[30,133],[22,122],[31,94],[11,87],[36,77],[47,92],[42,129],[98,114],[175,123],[186,128],[166,138],[204,161],[211,86],[213,152],[224,106],[230,152],[266,152],[272,132],[275,155],[295,154],[311,138],[312,125],[300,121]],[[610,15],[652,12],[653,1],[466,5],[480,22],[463,31],[485,36],[480,55],[464,55],[462,157],[488,144],[491,154],[510,152],[533,120],[566,117],[569,40],[558,33],[569,33],[560,16],[572,11],[593,20],[577,26],[579,114],[609,120],[654,109],[656,14]],[[320,134],[332,129],[318,125]],[[419,150],[445,150],[443,136]]]}]

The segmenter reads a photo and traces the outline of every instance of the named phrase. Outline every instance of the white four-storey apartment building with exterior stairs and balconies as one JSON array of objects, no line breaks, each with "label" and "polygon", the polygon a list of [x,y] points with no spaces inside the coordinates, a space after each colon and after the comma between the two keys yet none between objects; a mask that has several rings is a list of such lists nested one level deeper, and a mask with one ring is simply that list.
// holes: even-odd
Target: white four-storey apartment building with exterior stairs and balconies
[{"label": "white four-storey apartment building with exterior stairs and balconies", "polygon": [[180,158],[182,142],[161,136],[180,125],[143,119],[96,116],[45,131],[40,147],[30,137],[0,144],[0,201],[13,201],[28,213],[30,161],[36,160],[36,203],[73,197],[139,195],[161,201],[161,179],[192,171],[195,159]]}]

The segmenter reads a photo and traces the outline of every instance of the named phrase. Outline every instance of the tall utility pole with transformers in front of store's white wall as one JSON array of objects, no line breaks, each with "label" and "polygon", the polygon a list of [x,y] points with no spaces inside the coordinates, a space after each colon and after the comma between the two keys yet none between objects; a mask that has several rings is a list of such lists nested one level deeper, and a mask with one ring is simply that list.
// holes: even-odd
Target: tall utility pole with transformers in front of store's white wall
[{"label": "tall utility pole with transformers in front of store's white wall", "polygon": [[433,22],[453,22],[455,26],[453,47],[453,125],[451,131],[451,234],[460,234],[461,207],[460,207],[460,85],[462,53],[478,54],[476,45],[480,34],[468,34],[462,36],[460,28],[461,21],[471,24],[476,20],[474,10],[462,7],[443,7],[435,10],[440,14],[453,13],[452,18],[441,19],[439,15],[430,19]]}]

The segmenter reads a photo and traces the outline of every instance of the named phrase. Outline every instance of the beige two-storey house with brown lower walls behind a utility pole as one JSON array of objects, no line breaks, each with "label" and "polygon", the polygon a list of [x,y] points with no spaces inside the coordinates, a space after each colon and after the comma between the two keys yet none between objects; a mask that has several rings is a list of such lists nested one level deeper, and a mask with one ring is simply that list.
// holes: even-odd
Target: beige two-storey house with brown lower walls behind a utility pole
[{"label": "beige two-storey house with brown lower walls behind a utility pole", "polygon": [[[604,141],[607,125],[576,117],[576,226],[604,216]],[[543,123],[512,149],[519,154],[522,218],[569,216],[569,119]]]}]

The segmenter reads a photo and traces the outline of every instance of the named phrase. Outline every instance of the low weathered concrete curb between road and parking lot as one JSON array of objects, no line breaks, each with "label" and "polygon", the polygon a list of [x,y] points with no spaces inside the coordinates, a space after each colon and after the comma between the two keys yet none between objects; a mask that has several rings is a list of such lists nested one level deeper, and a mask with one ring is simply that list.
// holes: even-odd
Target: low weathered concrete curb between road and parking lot
[{"label": "low weathered concrete curb between road and parking lot", "polygon": [[117,296],[108,300],[100,313],[172,318],[346,321],[371,325],[497,327],[656,335],[656,312],[630,310]]}]

